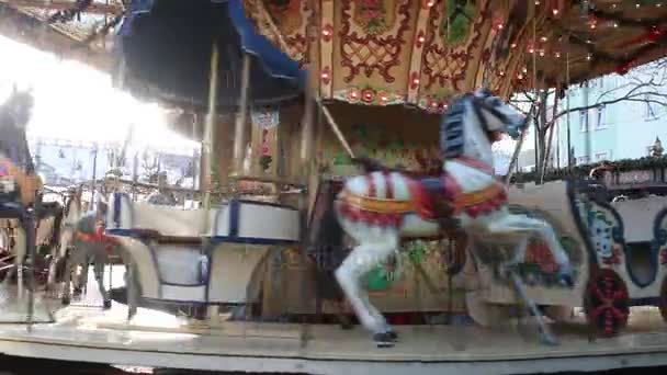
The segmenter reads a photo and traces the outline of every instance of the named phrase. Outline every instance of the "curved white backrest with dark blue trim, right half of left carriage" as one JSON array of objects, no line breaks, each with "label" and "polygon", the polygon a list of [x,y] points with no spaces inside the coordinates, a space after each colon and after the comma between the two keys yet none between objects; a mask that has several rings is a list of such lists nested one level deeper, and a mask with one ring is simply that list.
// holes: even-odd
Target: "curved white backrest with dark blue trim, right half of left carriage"
[{"label": "curved white backrest with dark blue trim, right half of left carriage", "polygon": [[290,206],[231,200],[213,221],[214,243],[290,245],[301,240],[297,209]]}]

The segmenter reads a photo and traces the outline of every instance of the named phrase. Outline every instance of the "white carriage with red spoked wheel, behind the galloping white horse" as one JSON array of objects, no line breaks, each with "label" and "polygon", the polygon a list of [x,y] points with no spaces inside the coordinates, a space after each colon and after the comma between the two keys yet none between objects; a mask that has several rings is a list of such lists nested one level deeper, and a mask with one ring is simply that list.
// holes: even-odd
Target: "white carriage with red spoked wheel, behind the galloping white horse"
[{"label": "white carriage with red spoked wheel, behind the galloping white horse", "polygon": [[[554,282],[554,261],[544,243],[533,241],[520,273],[528,295],[547,316],[569,320],[583,307],[593,332],[619,333],[633,306],[658,307],[667,317],[665,216],[667,198],[653,196],[607,203],[595,200],[584,181],[525,184],[510,189],[512,209],[551,223],[575,269],[575,284]],[[501,323],[502,306],[516,303],[500,259],[474,249],[477,291],[468,294],[468,311],[483,325]]]}]

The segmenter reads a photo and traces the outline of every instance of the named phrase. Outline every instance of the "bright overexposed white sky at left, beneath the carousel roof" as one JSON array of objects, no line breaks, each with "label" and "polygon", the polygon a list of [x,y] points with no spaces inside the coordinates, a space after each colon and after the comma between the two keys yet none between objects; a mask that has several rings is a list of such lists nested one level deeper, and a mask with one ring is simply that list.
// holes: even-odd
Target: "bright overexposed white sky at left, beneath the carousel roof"
[{"label": "bright overexposed white sky at left, beneath the carousel roof", "polygon": [[196,147],[169,130],[163,111],[112,87],[111,76],[74,60],[0,36],[0,102],[12,90],[35,94],[30,137],[74,141],[123,141],[135,126],[133,146],[191,152]]}]

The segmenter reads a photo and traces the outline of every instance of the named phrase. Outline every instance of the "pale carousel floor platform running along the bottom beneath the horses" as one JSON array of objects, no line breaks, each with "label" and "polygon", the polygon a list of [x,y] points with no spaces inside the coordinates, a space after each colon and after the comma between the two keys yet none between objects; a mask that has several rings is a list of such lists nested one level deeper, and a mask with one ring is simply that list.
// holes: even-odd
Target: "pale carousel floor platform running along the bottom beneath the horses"
[{"label": "pale carousel floor platform running along the bottom beneath the horses", "polygon": [[[20,300],[18,300],[20,302]],[[8,303],[7,300],[4,302]],[[19,306],[19,305],[16,305]],[[21,304],[20,306],[23,306]],[[0,353],[13,356],[127,366],[303,374],[529,374],[667,365],[667,325],[656,309],[633,311],[630,328],[613,339],[589,340],[580,317],[554,325],[561,345],[538,343],[529,322],[506,328],[399,326],[400,342],[376,349],[359,327],[189,321],[94,303],[55,311],[37,300],[41,321],[0,325]],[[22,308],[14,308],[20,316]],[[42,314],[42,315],[39,315]],[[305,334],[304,334],[305,333]],[[304,339],[305,338],[305,339]]]}]

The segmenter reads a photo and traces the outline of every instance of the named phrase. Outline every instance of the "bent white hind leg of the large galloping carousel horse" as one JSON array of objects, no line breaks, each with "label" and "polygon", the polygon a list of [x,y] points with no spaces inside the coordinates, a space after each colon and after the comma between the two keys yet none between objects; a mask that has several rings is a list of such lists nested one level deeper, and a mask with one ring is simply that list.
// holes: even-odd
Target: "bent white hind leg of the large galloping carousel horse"
[{"label": "bent white hind leg of the large galloping carousel horse", "polygon": [[373,333],[378,346],[389,346],[395,339],[386,320],[369,302],[368,292],[360,287],[361,279],[395,251],[397,234],[386,232],[376,241],[360,243],[336,270],[336,279],[352,305],[360,322]]}]

